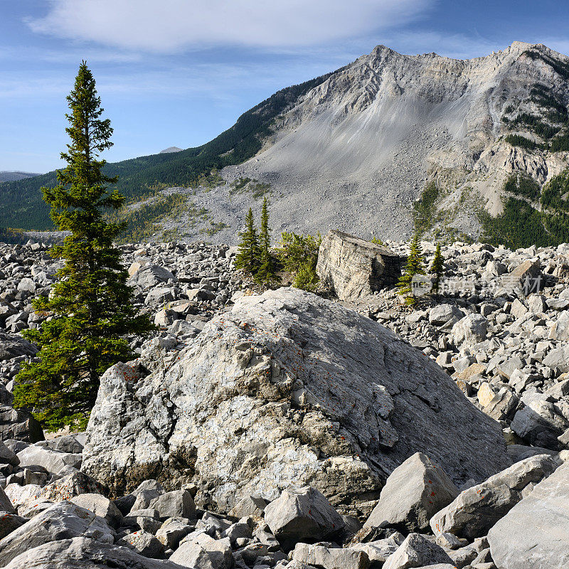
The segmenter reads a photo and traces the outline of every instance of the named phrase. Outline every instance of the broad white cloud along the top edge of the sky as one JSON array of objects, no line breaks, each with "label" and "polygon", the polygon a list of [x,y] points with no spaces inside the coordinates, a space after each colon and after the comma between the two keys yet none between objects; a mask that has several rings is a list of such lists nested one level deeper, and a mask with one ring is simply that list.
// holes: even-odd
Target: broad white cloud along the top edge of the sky
[{"label": "broad white cloud along the top edge of the sky", "polygon": [[130,50],[315,46],[413,21],[435,0],[51,0],[33,31]]}]

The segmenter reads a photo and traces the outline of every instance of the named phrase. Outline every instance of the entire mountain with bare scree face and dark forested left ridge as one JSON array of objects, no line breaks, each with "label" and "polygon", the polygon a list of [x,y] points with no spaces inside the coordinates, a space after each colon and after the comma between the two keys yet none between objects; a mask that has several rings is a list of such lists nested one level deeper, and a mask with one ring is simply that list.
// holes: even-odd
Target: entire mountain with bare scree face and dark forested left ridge
[{"label": "entire mountain with bare scree face and dark forested left ridge", "polygon": [[[556,245],[569,240],[569,186],[542,187],[569,164],[568,78],[569,58],[541,44],[471,60],[378,46],[275,93],[203,147],[107,173],[129,199],[171,186],[161,208],[156,196],[139,203],[137,239],[235,243],[248,208],[269,196],[277,231],[401,239],[415,216],[427,232]],[[48,228],[38,188],[53,181],[1,185],[0,224]]]}]

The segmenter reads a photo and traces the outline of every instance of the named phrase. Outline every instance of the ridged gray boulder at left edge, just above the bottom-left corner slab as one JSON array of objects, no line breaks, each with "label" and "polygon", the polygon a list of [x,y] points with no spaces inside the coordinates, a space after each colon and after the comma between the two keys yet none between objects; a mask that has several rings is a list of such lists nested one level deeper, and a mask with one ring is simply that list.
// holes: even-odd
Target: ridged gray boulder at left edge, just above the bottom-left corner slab
[{"label": "ridged gray boulder at left edge, just above the bottom-left corner slab", "polygon": [[55,504],[0,540],[0,567],[29,549],[80,536],[101,543],[115,541],[107,522],[91,511],[68,501]]}]

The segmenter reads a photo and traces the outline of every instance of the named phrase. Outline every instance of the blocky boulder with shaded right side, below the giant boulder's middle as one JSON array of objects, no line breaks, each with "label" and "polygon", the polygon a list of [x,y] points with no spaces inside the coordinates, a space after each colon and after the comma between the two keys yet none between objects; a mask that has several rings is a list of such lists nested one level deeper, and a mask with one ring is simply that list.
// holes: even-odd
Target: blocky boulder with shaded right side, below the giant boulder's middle
[{"label": "blocky boulder with shaded right side, below the giant boulder's middle", "polygon": [[283,491],[265,508],[265,523],[287,549],[297,541],[333,539],[345,525],[324,495],[309,487]]}]

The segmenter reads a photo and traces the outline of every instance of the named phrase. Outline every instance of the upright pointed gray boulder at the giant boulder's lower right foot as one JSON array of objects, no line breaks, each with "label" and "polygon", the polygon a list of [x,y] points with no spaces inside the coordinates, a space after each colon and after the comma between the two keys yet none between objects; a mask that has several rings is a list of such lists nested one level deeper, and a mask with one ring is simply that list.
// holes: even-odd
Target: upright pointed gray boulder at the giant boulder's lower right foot
[{"label": "upright pointed gray boulder at the giant boulder's lower right foot", "polygon": [[406,533],[428,528],[432,516],[458,494],[442,468],[416,452],[390,474],[364,527],[391,527]]}]

